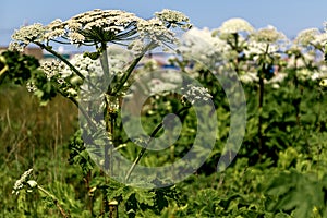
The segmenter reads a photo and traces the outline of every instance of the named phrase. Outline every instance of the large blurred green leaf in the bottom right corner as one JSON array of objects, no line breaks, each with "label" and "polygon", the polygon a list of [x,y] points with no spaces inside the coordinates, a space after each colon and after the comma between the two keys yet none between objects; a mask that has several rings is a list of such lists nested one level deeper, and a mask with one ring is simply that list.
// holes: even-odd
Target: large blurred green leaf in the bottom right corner
[{"label": "large blurred green leaf in the bottom right corner", "polygon": [[292,215],[296,218],[325,217],[326,182],[326,175],[317,179],[314,173],[300,173],[295,170],[280,172],[267,187],[267,194],[275,199],[268,205],[268,209],[293,210]]}]

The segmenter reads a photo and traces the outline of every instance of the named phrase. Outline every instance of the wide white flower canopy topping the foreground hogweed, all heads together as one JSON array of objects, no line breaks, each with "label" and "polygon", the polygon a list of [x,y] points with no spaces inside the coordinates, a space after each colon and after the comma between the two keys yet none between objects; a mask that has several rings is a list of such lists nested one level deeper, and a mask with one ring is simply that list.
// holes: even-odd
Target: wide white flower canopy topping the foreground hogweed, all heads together
[{"label": "wide white flower canopy topping the foreground hogweed, all heads together", "polygon": [[66,21],[57,19],[47,26],[41,24],[24,26],[15,31],[11,48],[22,50],[31,43],[37,45],[46,43],[48,46],[49,41],[78,46],[102,46],[107,43],[124,44],[145,36],[171,43],[173,34],[169,27],[185,29],[190,28],[191,24],[184,14],[171,10],[157,12],[155,19],[143,20],[133,13],[121,10],[95,9]]}]

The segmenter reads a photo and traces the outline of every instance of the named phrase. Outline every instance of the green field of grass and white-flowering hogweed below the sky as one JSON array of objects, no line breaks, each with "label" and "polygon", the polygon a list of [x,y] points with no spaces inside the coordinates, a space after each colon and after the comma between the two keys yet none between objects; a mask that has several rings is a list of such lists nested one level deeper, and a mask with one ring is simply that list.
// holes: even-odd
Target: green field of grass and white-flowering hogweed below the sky
[{"label": "green field of grass and white-flowering hogweed below the sky", "polygon": [[1,216],[327,217],[324,36],[234,19],[187,31],[162,62],[155,36],[65,59],[34,35],[59,59],[0,59]]}]

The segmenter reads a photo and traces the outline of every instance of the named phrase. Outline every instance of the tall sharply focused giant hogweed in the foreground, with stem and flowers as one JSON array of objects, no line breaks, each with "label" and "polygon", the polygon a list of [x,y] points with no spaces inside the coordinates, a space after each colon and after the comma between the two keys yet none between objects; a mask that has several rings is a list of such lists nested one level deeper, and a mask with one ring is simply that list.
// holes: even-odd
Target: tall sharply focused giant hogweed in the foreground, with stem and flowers
[{"label": "tall sharply focused giant hogweed in the foreground, with stem and flowers", "polygon": [[[23,26],[12,35],[11,50],[23,51],[26,46],[35,45],[56,57],[56,60],[43,62],[40,66],[44,72],[41,77],[46,77],[50,82],[50,86],[46,88],[51,89],[53,95],[44,96],[45,82],[39,80],[39,76],[32,76],[27,81],[27,88],[40,97],[44,102],[60,94],[78,107],[84,129],[71,143],[72,160],[83,167],[84,175],[86,180],[89,180],[87,184],[96,184],[88,186],[89,194],[94,196],[92,193],[96,190],[101,191],[102,206],[98,215],[118,216],[117,204],[122,201],[125,202],[129,216],[135,215],[135,210],[140,208],[156,207],[160,210],[167,204],[165,204],[166,197],[174,197],[170,187],[165,192],[160,190],[142,191],[117,183],[107,174],[117,173],[113,171],[114,162],[111,154],[119,146],[119,144],[117,145],[119,142],[117,138],[119,135],[118,113],[121,98],[126,94],[132,73],[148,51],[158,47],[171,48],[177,43],[171,28],[189,29],[190,27],[191,24],[185,15],[171,10],[157,12],[149,20],[120,10],[94,10],[77,14],[66,21],[55,20],[46,26],[39,23]],[[56,51],[55,47],[58,44],[76,45],[81,48],[90,47],[92,49],[86,49],[87,51],[83,56],[66,60]],[[120,46],[120,56],[117,56],[114,49],[111,49],[112,45]],[[194,93],[196,87],[187,92]],[[195,93],[202,94],[203,92],[198,89]],[[204,98],[208,97],[206,93],[203,96]],[[194,99],[192,94],[187,97],[187,99],[191,98],[191,101]],[[99,104],[93,105],[94,101],[99,101]],[[178,111],[178,114],[189,107],[190,104],[186,104]],[[156,136],[162,126],[164,123],[159,123],[150,136]],[[106,136],[100,134],[102,130],[106,131]],[[87,148],[88,152],[92,149],[92,154],[96,154],[93,155],[93,159],[101,162],[102,173],[100,174],[92,175],[95,165],[90,160],[89,154],[86,153],[84,145],[87,144],[90,145],[90,148]],[[134,164],[128,170],[126,183],[135,165],[143,157],[145,148],[146,146],[140,150]],[[24,174],[29,177],[31,172],[28,170]],[[23,187],[28,190],[38,187],[53,199],[63,217],[70,216],[70,208],[62,207],[53,195],[41,189],[34,180],[25,181],[25,178],[20,180],[22,181],[20,185],[14,186],[15,193]],[[96,215],[92,207],[90,214]]]}]

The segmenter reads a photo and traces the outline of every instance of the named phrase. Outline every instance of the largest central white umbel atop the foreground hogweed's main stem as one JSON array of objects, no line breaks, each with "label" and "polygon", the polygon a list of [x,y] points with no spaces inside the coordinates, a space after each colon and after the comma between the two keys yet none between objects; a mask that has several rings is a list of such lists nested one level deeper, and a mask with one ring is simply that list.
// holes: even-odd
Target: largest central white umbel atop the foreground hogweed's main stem
[{"label": "largest central white umbel atop the foreground hogweed's main stem", "polygon": [[46,39],[61,37],[81,45],[126,40],[136,33],[135,24],[140,20],[121,10],[95,9],[64,22],[55,20],[47,26]]}]

